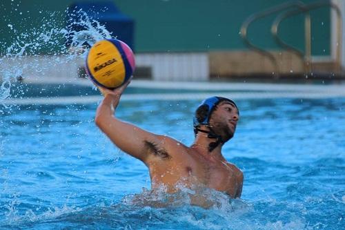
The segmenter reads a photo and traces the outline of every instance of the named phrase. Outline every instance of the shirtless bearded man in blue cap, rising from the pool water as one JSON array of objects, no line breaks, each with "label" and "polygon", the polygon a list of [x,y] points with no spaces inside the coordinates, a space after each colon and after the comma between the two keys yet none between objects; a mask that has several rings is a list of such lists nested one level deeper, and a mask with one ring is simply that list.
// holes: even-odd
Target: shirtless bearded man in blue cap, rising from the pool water
[{"label": "shirtless bearded man in blue cap, rising from the pool water", "polygon": [[204,100],[194,117],[195,142],[188,147],[117,119],[115,110],[129,82],[115,90],[100,88],[105,97],[95,122],[122,151],[148,166],[152,189],[163,185],[168,193],[175,193],[178,184],[189,189],[201,185],[239,198],[243,173],[221,155],[221,147],[233,137],[239,119],[235,102],[224,97]]}]

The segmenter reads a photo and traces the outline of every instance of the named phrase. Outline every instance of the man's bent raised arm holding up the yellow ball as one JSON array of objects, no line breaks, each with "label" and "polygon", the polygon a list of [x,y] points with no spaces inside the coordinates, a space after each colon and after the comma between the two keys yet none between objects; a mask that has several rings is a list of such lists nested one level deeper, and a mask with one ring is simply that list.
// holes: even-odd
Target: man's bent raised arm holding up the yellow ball
[{"label": "man's bent raised arm holding up the yellow ball", "polygon": [[145,143],[159,144],[160,136],[148,133],[127,122],[122,122],[114,115],[121,94],[128,84],[129,82],[115,90],[100,88],[105,97],[97,108],[95,123],[122,151],[147,163],[148,151]]}]

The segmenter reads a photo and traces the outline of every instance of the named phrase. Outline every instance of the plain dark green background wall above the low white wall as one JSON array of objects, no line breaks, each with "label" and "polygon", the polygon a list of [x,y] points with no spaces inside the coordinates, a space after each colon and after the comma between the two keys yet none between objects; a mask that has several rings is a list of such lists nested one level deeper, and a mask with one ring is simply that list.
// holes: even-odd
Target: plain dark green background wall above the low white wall
[{"label": "plain dark green background wall above the low white wall", "polygon": [[[66,26],[64,10],[77,0],[1,1],[0,44],[8,46],[17,35],[32,29]],[[90,0],[78,0],[90,1]],[[285,3],[286,0],[112,0],[126,15],[135,19],[136,52],[207,52],[213,50],[243,50],[246,46],[239,35],[243,21],[255,12]],[[303,0],[312,3],[317,0]],[[18,5],[18,6],[17,6]],[[315,10],[313,17],[313,54],[330,53],[330,11]],[[256,21],[250,26],[250,39],[262,48],[277,50],[270,36],[270,24],[277,14]],[[11,26],[8,26],[8,25]],[[11,29],[12,28],[12,29]],[[14,29],[16,33],[14,33]],[[48,30],[50,31],[50,30]],[[47,31],[47,32],[48,32]],[[288,44],[304,50],[302,17],[287,19],[280,33]],[[44,32],[44,30],[43,30]],[[116,31],[113,33],[115,37]],[[32,38],[27,41],[32,41]],[[21,37],[23,39],[23,37]],[[121,39],[121,37],[120,37]],[[21,42],[21,41],[17,41]],[[26,41],[25,41],[26,42]],[[63,41],[56,41],[59,49]],[[0,53],[6,52],[0,46]],[[34,50],[43,54],[50,48]]]}]

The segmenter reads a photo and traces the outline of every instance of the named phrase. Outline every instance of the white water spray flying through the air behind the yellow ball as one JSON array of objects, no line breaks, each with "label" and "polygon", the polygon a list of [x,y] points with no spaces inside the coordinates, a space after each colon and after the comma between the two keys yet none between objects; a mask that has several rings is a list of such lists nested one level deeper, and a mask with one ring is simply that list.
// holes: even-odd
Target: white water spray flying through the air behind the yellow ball
[{"label": "white water spray flying through the air behind the yellow ball", "polygon": [[[67,15],[67,22],[56,21],[58,14]],[[105,26],[90,19],[81,9],[51,12],[49,16],[41,19],[39,28],[28,28],[20,34],[12,23],[8,23],[12,41],[1,45],[5,53],[0,58],[0,103],[11,97],[14,81],[54,74],[52,72],[59,71],[63,64],[77,65],[96,41],[112,37]]]}]

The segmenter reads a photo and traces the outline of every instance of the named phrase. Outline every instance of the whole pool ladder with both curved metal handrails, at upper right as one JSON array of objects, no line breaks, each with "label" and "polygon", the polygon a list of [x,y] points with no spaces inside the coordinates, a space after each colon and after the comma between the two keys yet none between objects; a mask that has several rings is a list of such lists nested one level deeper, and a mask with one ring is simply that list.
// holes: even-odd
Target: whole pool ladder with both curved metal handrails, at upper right
[{"label": "whole pool ladder with both curved metal handrails, at upper right", "polygon": [[[313,73],[313,63],[312,63],[312,55],[311,55],[311,15],[310,12],[317,8],[324,8],[330,7],[335,10],[337,14],[337,48],[335,49],[335,72],[341,73],[342,72],[342,12],[338,6],[336,6],[331,1],[317,1],[315,3],[303,3],[302,1],[288,1],[287,3],[282,3],[281,5],[274,6],[273,8],[268,8],[262,12],[257,12],[253,15],[250,15],[241,26],[241,36],[244,40],[246,46],[250,49],[254,50],[255,52],[259,52],[259,54],[268,57],[268,59],[272,62],[274,66],[274,76],[275,78],[279,78],[281,75],[281,71],[279,68],[279,64],[277,61],[277,57],[273,55],[271,52],[264,48],[260,48],[259,46],[253,44],[253,42],[249,41],[248,39],[248,27],[250,23],[256,21],[257,19],[262,19],[267,17],[268,15],[273,15],[277,12],[280,13],[272,23],[270,27],[270,32],[273,35],[275,42],[278,46],[284,48],[288,52],[293,52],[299,59],[302,61],[304,66],[304,75],[308,75]],[[304,15],[304,44],[305,50],[299,50],[294,46],[287,44],[281,37],[278,35],[279,25],[287,19],[288,17],[293,17],[296,15]],[[331,50],[332,52],[332,50]],[[332,55],[332,54],[331,54]]]}]

